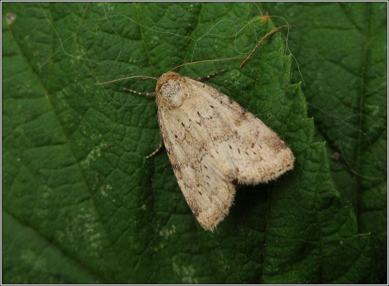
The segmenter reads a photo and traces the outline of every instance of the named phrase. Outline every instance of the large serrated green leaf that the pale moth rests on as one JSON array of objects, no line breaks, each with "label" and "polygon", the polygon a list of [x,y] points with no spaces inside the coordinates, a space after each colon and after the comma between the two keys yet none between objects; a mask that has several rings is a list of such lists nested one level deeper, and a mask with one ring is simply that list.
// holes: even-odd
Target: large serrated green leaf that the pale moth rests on
[{"label": "large serrated green leaf that the pale moth rests on", "polygon": [[[343,190],[335,181],[336,190],[331,154],[323,142],[313,142],[313,119],[307,117],[302,89],[312,93],[290,83],[291,58],[281,35],[271,35],[239,68],[275,27],[257,17],[258,6],[2,5],[2,282],[375,281],[379,270],[372,263],[382,260],[371,244],[384,246],[377,244],[381,238],[374,231],[362,228],[371,218],[360,207],[375,206],[381,197],[360,197],[369,194],[363,191],[362,176],[355,179],[355,190]],[[16,15],[12,23],[7,13]],[[297,30],[290,32],[289,44]],[[242,58],[188,65],[179,72],[204,76],[225,69],[207,84],[275,130],[296,163],[276,181],[239,186],[230,214],[211,233],[191,214],[166,152],[146,158],[160,140],[157,107],[152,98],[126,93],[123,87],[150,92],[155,82],[94,84],[132,75],[158,77],[183,63],[236,56]],[[316,62],[303,62],[305,83],[312,88],[315,78],[305,75],[307,68],[318,71]],[[335,87],[332,80],[339,77],[327,73],[323,82]],[[368,92],[376,97],[367,88],[361,94]],[[316,114],[315,122],[320,134],[330,133],[331,126],[317,121]],[[363,125],[362,134],[378,132],[383,142],[379,130],[369,128]],[[375,146],[372,154],[381,152]],[[359,151],[353,160],[358,171],[371,169],[363,164],[367,153]],[[347,191],[357,193],[357,199],[348,199]],[[369,231],[372,239],[365,234]]]}]

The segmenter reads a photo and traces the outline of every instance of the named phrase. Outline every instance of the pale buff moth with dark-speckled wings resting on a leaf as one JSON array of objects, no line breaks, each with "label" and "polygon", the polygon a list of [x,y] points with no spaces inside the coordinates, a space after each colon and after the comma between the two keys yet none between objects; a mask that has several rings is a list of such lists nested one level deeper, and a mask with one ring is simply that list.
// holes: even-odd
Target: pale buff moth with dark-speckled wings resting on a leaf
[{"label": "pale buff moth with dark-speckled wings resting on a leaf", "polygon": [[178,185],[205,230],[234,201],[234,181],[256,185],[293,169],[294,156],[254,114],[215,88],[167,72],[155,101],[163,142]]}]

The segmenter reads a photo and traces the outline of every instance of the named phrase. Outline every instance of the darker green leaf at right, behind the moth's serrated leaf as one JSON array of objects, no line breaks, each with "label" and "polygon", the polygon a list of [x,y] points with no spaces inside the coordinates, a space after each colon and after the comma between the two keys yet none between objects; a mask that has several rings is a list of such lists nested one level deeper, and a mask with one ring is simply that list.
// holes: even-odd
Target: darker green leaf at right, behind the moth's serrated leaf
[{"label": "darker green leaf at right, behind the moth's serrated leaf", "polygon": [[[359,232],[372,234],[377,275],[387,283],[387,3],[260,8],[297,23],[288,45],[304,76],[308,114]],[[338,161],[330,158],[335,152]]]}]

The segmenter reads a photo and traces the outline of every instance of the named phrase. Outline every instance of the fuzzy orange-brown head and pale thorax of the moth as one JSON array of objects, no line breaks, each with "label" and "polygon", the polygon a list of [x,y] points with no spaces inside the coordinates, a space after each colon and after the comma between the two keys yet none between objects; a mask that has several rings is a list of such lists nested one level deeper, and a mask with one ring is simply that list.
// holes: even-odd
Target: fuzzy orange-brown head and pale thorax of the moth
[{"label": "fuzzy orange-brown head and pale thorax of the moth", "polygon": [[157,82],[157,101],[166,107],[179,107],[186,98],[183,77],[176,72],[164,73]]}]

